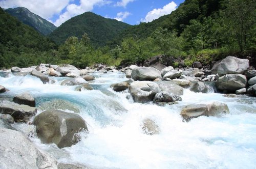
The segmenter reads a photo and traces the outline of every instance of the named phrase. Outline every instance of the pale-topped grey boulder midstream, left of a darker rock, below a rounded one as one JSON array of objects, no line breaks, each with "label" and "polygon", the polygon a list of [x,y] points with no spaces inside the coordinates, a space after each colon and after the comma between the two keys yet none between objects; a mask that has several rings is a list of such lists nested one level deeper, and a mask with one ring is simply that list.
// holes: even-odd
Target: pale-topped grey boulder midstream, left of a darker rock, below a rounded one
[{"label": "pale-topped grey boulder midstream, left of a darker rock, below a rounded one", "polygon": [[135,102],[144,103],[152,101],[160,88],[155,82],[151,81],[134,81],[129,87],[129,91]]}]

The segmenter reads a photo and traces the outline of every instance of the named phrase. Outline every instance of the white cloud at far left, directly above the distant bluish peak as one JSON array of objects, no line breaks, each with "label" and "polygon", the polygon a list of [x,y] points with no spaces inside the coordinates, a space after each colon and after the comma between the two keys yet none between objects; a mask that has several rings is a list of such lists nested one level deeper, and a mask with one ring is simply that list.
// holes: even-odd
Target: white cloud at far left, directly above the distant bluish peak
[{"label": "white cloud at far left, directly above the distant bluish peak", "polygon": [[55,14],[59,14],[64,9],[70,0],[1,0],[0,6],[2,8],[25,7],[31,12],[49,19]]}]

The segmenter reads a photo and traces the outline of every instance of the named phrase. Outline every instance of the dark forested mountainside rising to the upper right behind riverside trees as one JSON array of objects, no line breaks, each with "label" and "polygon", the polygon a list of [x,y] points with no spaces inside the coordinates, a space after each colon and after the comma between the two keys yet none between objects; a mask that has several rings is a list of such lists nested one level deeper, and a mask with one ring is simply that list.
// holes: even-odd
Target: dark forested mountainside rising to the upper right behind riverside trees
[{"label": "dark forested mountainside rising to the upper right behind riverside trees", "polygon": [[152,22],[141,22],[121,32],[112,40],[112,44],[119,44],[127,37],[145,39],[158,27],[176,31],[179,35],[183,32],[191,19],[202,20],[204,17],[215,16],[220,9],[224,8],[225,0],[186,0],[184,3],[168,15],[161,16]]}]

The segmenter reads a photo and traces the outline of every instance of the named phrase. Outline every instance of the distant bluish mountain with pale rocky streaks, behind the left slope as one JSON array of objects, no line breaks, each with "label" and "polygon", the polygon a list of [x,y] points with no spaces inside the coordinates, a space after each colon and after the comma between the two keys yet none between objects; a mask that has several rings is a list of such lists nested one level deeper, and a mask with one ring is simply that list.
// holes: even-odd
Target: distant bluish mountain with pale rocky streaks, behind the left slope
[{"label": "distant bluish mountain with pale rocky streaks, behind the left slope", "polygon": [[27,8],[17,7],[9,8],[5,10],[10,15],[16,17],[19,21],[33,27],[37,32],[42,35],[48,35],[52,33],[57,27],[44,18],[30,12]]}]

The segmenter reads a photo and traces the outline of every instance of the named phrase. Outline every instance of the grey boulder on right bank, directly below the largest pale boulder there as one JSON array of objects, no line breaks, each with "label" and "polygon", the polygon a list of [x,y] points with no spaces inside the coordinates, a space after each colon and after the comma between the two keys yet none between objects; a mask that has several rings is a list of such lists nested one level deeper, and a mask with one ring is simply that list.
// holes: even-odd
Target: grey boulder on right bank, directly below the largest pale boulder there
[{"label": "grey boulder on right bank, directly below the largest pale boulder there", "polygon": [[217,82],[216,87],[219,90],[236,91],[246,87],[246,77],[242,74],[227,74],[221,76]]}]

